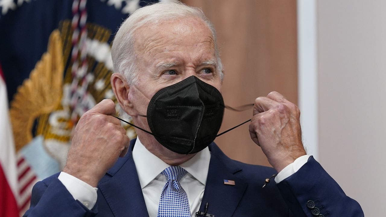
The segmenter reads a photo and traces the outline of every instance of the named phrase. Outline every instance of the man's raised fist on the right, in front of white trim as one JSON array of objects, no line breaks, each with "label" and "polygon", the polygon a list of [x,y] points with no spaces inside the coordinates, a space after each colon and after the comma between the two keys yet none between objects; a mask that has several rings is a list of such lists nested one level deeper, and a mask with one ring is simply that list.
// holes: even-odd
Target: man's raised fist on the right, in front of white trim
[{"label": "man's raised fist on the right, in front of white trim", "polygon": [[306,154],[301,141],[300,110],[278,92],[255,100],[249,133],[278,172]]}]

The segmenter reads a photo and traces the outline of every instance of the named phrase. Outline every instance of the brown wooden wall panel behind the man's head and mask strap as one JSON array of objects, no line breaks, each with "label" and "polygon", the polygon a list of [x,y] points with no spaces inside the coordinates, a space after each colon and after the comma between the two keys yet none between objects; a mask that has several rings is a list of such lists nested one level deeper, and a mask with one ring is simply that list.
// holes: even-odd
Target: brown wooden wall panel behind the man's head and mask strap
[{"label": "brown wooden wall panel behind the man's head and mask strap", "polygon": [[[297,102],[296,0],[183,0],[213,22],[225,66],[223,96],[230,106],[253,103],[276,90]],[[251,119],[252,110],[225,111],[222,129]],[[215,142],[242,162],[269,165],[248,125]]]}]

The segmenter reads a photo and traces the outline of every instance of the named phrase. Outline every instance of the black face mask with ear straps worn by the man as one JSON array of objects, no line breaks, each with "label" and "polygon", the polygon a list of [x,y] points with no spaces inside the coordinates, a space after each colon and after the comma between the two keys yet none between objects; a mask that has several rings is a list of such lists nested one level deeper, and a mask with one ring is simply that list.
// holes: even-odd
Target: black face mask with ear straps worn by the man
[{"label": "black face mask with ear straps worn by the man", "polygon": [[224,108],[239,111],[224,105],[217,88],[190,76],[159,90],[151,98],[146,115],[151,132],[117,118],[153,135],[161,145],[175,153],[191,154],[209,146],[217,136],[241,125],[217,135]]}]

